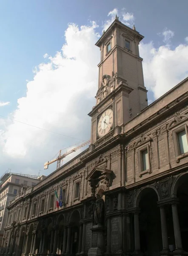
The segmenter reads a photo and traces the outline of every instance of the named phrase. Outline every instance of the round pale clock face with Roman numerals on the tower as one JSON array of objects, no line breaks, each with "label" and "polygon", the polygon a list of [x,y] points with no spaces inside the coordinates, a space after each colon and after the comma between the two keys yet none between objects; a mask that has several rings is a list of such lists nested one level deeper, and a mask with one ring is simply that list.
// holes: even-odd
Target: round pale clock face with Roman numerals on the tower
[{"label": "round pale clock face with Roman numerals on the tower", "polygon": [[107,109],[103,112],[103,114],[100,116],[99,122],[98,122],[98,134],[99,136],[104,136],[105,134],[110,131],[110,128],[113,124],[113,111],[111,109]]}]

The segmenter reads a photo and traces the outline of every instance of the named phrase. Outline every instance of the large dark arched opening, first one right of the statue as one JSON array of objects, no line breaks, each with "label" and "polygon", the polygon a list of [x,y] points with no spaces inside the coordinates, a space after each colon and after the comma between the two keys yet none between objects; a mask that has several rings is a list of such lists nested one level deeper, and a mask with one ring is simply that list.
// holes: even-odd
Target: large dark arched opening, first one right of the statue
[{"label": "large dark arched opening, first one right of the statue", "polygon": [[148,256],[159,255],[162,250],[160,208],[158,196],[152,188],[145,188],[140,194],[139,226],[140,250]]}]

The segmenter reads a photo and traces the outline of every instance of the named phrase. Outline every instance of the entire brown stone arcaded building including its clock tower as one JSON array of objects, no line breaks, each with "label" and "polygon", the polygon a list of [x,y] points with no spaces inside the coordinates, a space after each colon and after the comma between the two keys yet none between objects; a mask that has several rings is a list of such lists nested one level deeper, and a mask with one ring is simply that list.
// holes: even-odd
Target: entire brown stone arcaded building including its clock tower
[{"label": "entire brown stone arcaded building including its clock tower", "polygon": [[1,254],[188,251],[188,79],[147,106],[142,38],[116,17],[97,42],[91,145],[11,202]]}]

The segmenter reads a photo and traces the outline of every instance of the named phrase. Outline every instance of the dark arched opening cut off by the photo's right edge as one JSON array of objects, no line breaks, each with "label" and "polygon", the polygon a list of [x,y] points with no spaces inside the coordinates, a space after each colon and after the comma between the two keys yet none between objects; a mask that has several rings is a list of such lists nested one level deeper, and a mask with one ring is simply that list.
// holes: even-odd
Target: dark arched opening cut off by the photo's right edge
[{"label": "dark arched opening cut off by the photo's right edge", "polygon": [[188,252],[188,173],[177,180],[178,216],[182,238],[182,248]]}]

